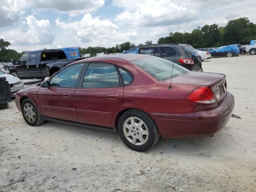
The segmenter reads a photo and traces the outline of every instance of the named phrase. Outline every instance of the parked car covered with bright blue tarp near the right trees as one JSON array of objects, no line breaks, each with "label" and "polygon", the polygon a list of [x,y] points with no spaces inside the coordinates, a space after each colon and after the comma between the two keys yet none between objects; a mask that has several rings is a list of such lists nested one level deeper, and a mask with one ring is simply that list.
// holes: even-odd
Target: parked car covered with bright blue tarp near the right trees
[{"label": "parked car covered with bright blue tarp near the right trees", "polygon": [[221,46],[214,50],[210,50],[212,57],[232,57],[239,56],[241,49],[238,47],[238,44]]}]

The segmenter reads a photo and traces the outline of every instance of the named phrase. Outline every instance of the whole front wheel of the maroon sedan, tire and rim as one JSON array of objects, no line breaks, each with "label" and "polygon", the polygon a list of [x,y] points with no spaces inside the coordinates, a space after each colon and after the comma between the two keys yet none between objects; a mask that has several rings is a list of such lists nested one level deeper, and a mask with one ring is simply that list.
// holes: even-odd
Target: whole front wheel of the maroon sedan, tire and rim
[{"label": "whole front wheel of the maroon sedan, tire and rim", "polygon": [[30,126],[38,126],[44,122],[42,114],[38,112],[38,109],[34,102],[30,99],[25,99],[21,105],[22,116],[27,124]]}]

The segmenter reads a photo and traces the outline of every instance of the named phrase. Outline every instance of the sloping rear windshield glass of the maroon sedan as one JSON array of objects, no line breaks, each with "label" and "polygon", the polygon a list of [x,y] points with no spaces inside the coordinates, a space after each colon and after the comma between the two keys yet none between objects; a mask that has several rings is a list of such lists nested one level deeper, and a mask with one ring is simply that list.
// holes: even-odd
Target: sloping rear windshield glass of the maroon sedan
[{"label": "sloping rear windshield glass of the maroon sedan", "polygon": [[[150,58],[142,58],[138,60],[134,60],[131,62],[136,66],[142,68],[148,74],[152,75],[154,78],[160,81],[165,81],[171,78],[179,76],[181,74],[189,72],[188,69],[170,62],[168,60],[158,58],[158,57],[150,57]],[[173,72],[172,72],[173,66]]]}]

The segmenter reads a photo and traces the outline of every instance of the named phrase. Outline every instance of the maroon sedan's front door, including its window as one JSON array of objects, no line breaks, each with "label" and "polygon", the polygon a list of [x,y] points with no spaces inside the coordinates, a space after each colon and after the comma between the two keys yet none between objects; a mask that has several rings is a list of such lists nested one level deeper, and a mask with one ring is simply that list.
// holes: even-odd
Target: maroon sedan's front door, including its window
[{"label": "maroon sedan's front door, including its window", "polygon": [[44,116],[78,122],[74,92],[83,66],[83,63],[73,64],[60,70],[50,79],[48,88],[38,90]]}]

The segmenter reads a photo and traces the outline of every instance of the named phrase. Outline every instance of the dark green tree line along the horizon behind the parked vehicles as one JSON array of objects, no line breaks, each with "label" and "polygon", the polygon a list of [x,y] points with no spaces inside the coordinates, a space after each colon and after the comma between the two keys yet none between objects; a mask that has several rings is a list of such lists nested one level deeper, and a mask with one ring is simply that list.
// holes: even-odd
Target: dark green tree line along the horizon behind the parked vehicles
[{"label": "dark green tree line along the horizon behind the parked vehicles", "polygon": [[[158,43],[184,43],[190,44],[194,48],[219,47],[230,44],[248,44],[250,40],[256,39],[256,24],[250,22],[246,17],[228,21],[224,27],[217,24],[204,25],[197,27],[192,32],[170,32],[169,36],[161,37]],[[144,44],[152,44],[152,40],[147,40]],[[142,44],[138,44],[142,45]],[[7,49],[10,43],[0,40],[0,62],[10,62],[11,59],[18,60],[24,53],[18,53],[15,50]],[[116,44],[113,47],[78,47],[80,54],[95,56],[100,52],[118,53],[136,46],[131,42]]]}]

